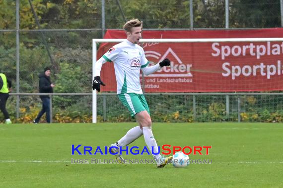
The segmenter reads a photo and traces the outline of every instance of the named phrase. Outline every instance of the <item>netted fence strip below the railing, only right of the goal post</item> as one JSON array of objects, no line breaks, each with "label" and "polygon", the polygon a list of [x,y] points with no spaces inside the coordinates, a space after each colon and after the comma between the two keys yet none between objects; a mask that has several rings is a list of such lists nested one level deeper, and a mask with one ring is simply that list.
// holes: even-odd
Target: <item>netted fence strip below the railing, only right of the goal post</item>
[{"label": "netted fence strip below the railing, only right of the goal post", "polygon": [[[153,122],[283,122],[282,94],[145,94]],[[117,95],[100,94],[98,120],[135,121]]]}]

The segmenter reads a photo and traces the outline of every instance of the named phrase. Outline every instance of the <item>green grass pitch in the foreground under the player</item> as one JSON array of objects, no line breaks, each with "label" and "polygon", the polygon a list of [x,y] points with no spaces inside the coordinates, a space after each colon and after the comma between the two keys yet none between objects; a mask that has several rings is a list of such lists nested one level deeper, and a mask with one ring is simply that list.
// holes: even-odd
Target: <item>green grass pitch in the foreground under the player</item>
[{"label": "green grass pitch in the foreground under the player", "polygon": [[[212,145],[212,164],[157,169],[154,164],[71,164],[71,144],[107,146],[135,123],[0,124],[0,188],[282,188],[283,125],[264,123],[153,123],[158,145]],[[143,137],[130,146],[143,147]],[[82,150],[82,149],[80,149]],[[124,155],[152,159],[151,155]]]}]

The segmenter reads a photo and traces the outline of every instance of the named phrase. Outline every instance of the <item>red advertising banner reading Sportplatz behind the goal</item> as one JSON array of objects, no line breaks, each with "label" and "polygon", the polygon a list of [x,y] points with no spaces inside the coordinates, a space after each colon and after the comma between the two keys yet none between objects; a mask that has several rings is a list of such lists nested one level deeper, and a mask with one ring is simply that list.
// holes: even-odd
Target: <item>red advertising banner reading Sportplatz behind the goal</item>
[{"label": "red advertising banner reading Sportplatz behind the goal", "polygon": [[[254,30],[143,31],[143,39],[283,38],[283,28]],[[108,30],[106,39],[126,39],[122,30]],[[114,43],[101,44],[100,58]],[[283,90],[283,41],[143,43],[151,65],[169,58],[163,67],[145,76],[146,93],[255,92]],[[102,91],[117,90],[113,63],[102,67]]]}]

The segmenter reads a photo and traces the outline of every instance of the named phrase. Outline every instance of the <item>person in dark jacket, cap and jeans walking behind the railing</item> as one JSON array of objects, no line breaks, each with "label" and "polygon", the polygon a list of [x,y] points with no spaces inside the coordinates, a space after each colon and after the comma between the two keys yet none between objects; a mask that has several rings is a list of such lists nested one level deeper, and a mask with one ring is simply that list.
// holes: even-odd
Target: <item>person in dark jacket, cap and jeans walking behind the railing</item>
[{"label": "person in dark jacket, cap and jeans walking behind the railing", "polygon": [[[39,75],[39,93],[53,93],[53,88],[55,84],[51,83],[50,80],[50,68],[46,67],[44,69],[44,73]],[[42,100],[42,109],[37,115],[36,119],[33,123],[38,123],[41,116],[46,112],[46,121],[50,123],[50,98],[49,95],[40,95],[40,99]]]}]

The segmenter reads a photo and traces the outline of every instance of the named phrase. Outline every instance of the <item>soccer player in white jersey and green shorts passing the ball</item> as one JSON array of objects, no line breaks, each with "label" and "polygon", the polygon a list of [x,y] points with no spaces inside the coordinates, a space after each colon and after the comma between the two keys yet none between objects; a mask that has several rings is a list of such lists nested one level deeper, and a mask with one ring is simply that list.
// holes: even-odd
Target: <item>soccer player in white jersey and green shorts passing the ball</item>
[{"label": "soccer player in white jersey and green shorts passing the ball", "polygon": [[[152,151],[156,160],[157,167],[164,167],[170,163],[172,156],[162,157],[158,153],[158,146],[151,131],[151,119],[149,108],[144,95],[141,91],[140,71],[145,75],[154,73],[164,66],[170,66],[170,60],[163,61],[148,67],[148,61],[145,58],[143,48],[137,45],[141,39],[141,22],[138,19],[132,19],[125,23],[124,30],[127,40],[111,47],[95,63],[95,77],[92,83],[92,89],[100,92],[100,85],[105,84],[100,79],[101,67],[104,63],[114,62],[115,75],[117,81],[117,94],[120,101],[136,117],[139,126],[130,129],[124,137],[116,143],[109,146],[112,153],[118,152],[116,158],[120,163],[124,163],[122,155],[119,154],[119,146],[126,146],[143,135],[144,140]],[[155,154],[154,154],[155,153]]]}]

